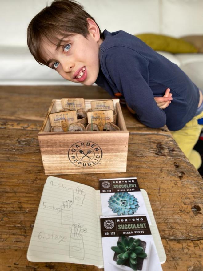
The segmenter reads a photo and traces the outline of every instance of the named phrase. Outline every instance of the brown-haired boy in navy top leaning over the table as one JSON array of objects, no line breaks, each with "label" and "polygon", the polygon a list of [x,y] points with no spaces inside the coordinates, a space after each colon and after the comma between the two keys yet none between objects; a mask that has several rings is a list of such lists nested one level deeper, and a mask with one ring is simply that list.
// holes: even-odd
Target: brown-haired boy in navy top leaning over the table
[{"label": "brown-haired boy in navy top leaning over the table", "polygon": [[190,162],[200,167],[193,147],[201,131],[197,119],[203,117],[203,98],[177,65],[124,31],[101,33],[94,18],[68,0],[54,1],[32,19],[27,42],[36,61],[63,78],[96,83],[124,97],[148,127],[166,124]]}]

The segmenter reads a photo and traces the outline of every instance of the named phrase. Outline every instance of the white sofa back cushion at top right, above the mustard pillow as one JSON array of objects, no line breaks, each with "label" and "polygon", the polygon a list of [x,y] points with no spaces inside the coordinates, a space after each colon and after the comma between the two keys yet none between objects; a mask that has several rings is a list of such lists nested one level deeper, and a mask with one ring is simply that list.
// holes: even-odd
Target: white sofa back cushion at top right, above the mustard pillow
[{"label": "white sofa back cushion at top right, above the mustard pillow", "polygon": [[202,0],[162,0],[161,33],[174,37],[203,34]]}]

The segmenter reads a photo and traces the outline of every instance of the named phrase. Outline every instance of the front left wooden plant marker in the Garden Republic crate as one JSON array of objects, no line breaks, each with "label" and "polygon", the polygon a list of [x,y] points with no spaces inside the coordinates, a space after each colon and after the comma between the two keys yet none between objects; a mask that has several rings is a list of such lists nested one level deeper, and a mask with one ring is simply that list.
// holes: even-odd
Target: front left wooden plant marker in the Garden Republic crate
[{"label": "front left wooden plant marker in the Garden Republic crate", "polygon": [[49,119],[51,126],[61,126],[64,132],[68,131],[68,126],[71,123],[78,121],[75,110],[51,113]]}]

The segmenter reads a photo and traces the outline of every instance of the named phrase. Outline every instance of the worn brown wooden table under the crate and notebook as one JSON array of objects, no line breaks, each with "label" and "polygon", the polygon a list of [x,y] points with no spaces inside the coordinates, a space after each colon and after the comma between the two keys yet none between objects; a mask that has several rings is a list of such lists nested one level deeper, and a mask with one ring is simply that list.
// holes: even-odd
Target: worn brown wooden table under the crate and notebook
[{"label": "worn brown wooden table under the crate and notebook", "polygon": [[[106,99],[109,95],[94,86],[1,86],[0,92],[0,270],[99,270],[91,265],[32,263],[27,261],[26,252],[47,178],[37,134],[51,100]],[[140,187],[148,192],[165,248],[163,270],[203,270],[201,176],[166,127],[147,128],[125,106],[122,111],[130,132],[127,172],[57,176],[96,189],[99,178],[136,176]]]}]

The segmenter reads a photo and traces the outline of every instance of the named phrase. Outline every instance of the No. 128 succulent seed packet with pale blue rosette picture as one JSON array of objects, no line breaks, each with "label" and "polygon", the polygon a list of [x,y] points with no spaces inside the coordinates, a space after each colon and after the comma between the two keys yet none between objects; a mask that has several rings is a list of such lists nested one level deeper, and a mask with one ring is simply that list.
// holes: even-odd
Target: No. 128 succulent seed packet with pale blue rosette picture
[{"label": "No. 128 succulent seed packet with pale blue rosette picture", "polygon": [[149,214],[137,178],[100,179],[100,196],[103,216]]}]

